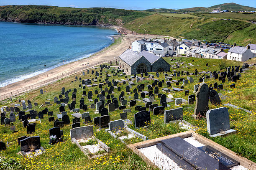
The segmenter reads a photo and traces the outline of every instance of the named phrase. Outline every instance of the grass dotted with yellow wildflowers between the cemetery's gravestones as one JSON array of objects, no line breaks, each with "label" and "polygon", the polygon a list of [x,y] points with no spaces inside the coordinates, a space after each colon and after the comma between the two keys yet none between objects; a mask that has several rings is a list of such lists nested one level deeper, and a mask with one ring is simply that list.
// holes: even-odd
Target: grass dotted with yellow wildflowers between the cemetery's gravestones
[{"label": "grass dotted with yellow wildflowers between the cemetery's gravestones", "polygon": [[[164,58],[168,63],[171,65],[175,63],[175,61],[170,61],[170,58]],[[236,61],[223,61],[223,60],[216,60],[216,59],[204,59],[204,58],[176,58],[178,61],[183,61],[185,64],[192,63],[195,65],[195,67],[192,67],[188,69],[189,72],[194,72],[195,69],[198,71],[218,71],[220,64],[224,64],[225,66],[241,66],[241,62]],[[192,60],[195,60],[192,62]],[[210,67],[206,66],[206,63],[209,63]],[[197,66],[198,65],[198,66]],[[94,71],[99,71],[99,69]],[[177,71],[182,71],[182,67],[179,69],[176,69]],[[184,70],[184,69],[183,69]],[[186,70],[186,69],[185,69]],[[112,70],[108,70],[108,73],[102,72],[102,78],[98,79],[105,79],[106,74],[111,74]],[[91,72],[91,71],[90,71]],[[155,73],[152,73],[155,74]],[[238,155],[241,155],[243,157],[248,158],[249,160],[252,160],[256,162],[256,69],[255,67],[251,69],[250,71],[247,71],[246,73],[241,74],[242,77],[240,80],[236,82],[236,88],[232,89],[232,91],[229,93],[228,91],[218,91],[221,92],[223,95],[227,95],[227,99],[222,100],[223,104],[230,103],[235,104],[236,106],[252,110],[252,114],[248,114],[242,110],[228,108],[229,109],[229,117],[230,119],[233,119],[234,121],[230,121],[230,127],[232,129],[236,129],[238,132],[236,134],[230,134],[227,137],[216,137],[212,138],[207,133],[207,125],[206,125],[206,119],[200,119],[195,120],[191,117],[191,115],[194,113],[194,107],[195,104],[188,105],[184,104],[181,106],[174,106],[174,103],[169,103],[171,106],[167,109],[173,109],[177,107],[183,107],[183,119],[190,122],[191,124],[198,126],[199,129],[197,132],[210,140],[213,140],[214,142],[219,143],[220,145],[223,145],[224,147],[227,147],[228,149],[238,153]],[[13,97],[14,102],[10,102],[10,100],[5,100],[0,102],[0,107],[3,105],[7,105],[8,107],[11,107],[12,103],[17,103],[18,99],[22,100],[31,100],[32,104],[34,102],[38,102],[38,106],[34,107],[33,110],[37,110],[38,112],[43,110],[44,107],[39,108],[41,104],[43,104],[45,101],[51,101],[51,103],[54,103],[53,99],[55,96],[59,96],[61,93],[61,88],[64,86],[66,90],[68,89],[77,89],[77,104],[76,108],[79,108],[79,99],[82,97],[82,88],[79,88],[79,84],[81,82],[74,81],[75,76],[82,77],[82,79],[92,79],[94,76],[92,74],[85,74],[85,76],[82,76],[82,73],[75,74],[72,76],[69,76],[67,78],[61,79],[57,82],[54,82],[52,84],[49,84],[47,86],[41,87],[40,89],[43,89],[46,91],[44,94],[40,94],[39,89],[30,91],[29,94],[23,94],[21,96]],[[129,76],[128,76],[129,77]],[[195,84],[197,84],[197,81],[201,77],[199,76],[192,76],[195,80],[195,83],[187,84],[184,86],[184,90],[189,90],[189,94],[192,94],[193,87]],[[186,79],[187,76],[180,76],[180,77],[173,77],[175,80],[179,80],[180,78]],[[109,78],[110,81],[112,79],[125,79],[125,76],[113,76]],[[160,74],[160,77],[157,78],[159,80],[164,79],[164,74]],[[74,81],[74,82],[71,82]],[[136,83],[136,86],[138,84],[152,84],[154,81],[146,79],[143,82]],[[214,84],[216,81],[213,79],[206,79],[206,83],[208,85]],[[217,81],[218,84],[220,84],[219,81]],[[232,82],[226,82],[223,84],[223,88],[226,90],[229,89],[229,85],[232,84]],[[127,85],[127,84],[126,84]],[[120,84],[121,91],[125,91],[125,86],[123,84]],[[136,86],[133,86],[131,91],[133,91]],[[173,87],[177,87],[176,85],[172,84]],[[106,87],[103,86],[104,89]],[[162,88],[166,88],[166,83],[163,84]],[[180,87],[180,86],[179,86]],[[161,91],[162,88],[159,88],[159,91]],[[97,95],[94,94],[95,89],[99,90],[98,87],[91,87],[86,88],[87,91],[93,91],[93,97],[92,99],[95,99]],[[146,88],[145,88],[146,89]],[[115,94],[113,94],[115,97],[118,98],[120,91],[117,91],[117,89],[114,89]],[[182,97],[183,99],[187,99],[187,96],[185,96],[184,91],[182,92],[174,92],[172,91],[174,98]],[[167,94],[166,94],[167,95]],[[128,94],[125,93],[125,98],[128,99]],[[131,94],[130,96],[133,96]],[[70,94],[69,97],[71,98]],[[50,99],[50,100],[48,100]],[[87,97],[84,98],[85,104],[90,105],[90,103],[87,101]],[[139,95],[139,99],[140,95]],[[129,101],[129,99],[128,99]],[[160,104],[160,99],[155,96],[155,103]],[[137,102],[136,105],[144,105],[143,102]],[[209,104],[210,109],[217,108],[220,106],[214,106],[212,104]],[[54,116],[56,118],[56,114],[59,114],[59,105],[53,104],[49,107],[47,107],[49,111],[54,112]],[[22,107],[20,108],[22,110]],[[66,111],[68,110],[67,106],[65,107]],[[128,107],[130,109],[130,107]],[[134,114],[136,111],[134,110],[134,107],[131,107],[132,112],[128,113],[128,119],[130,119],[132,122],[134,122]],[[80,110],[80,113],[83,113],[84,111]],[[89,108],[86,112],[90,112],[91,119],[94,117],[100,116],[100,114],[95,114],[95,109]],[[110,121],[120,119],[120,113],[121,111],[115,111],[110,112]],[[69,118],[72,122],[72,112],[67,113],[69,115]],[[8,117],[8,116],[7,116]],[[5,143],[9,142],[9,147],[5,151],[0,151],[1,159],[0,159],[0,168],[4,166],[4,162],[6,158],[9,158],[13,160],[13,162],[16,162],[15,165],[10,167],[10,169],[24,169],[27,170],[38,170],[38,169],[49,169],[49,170],[155,170],[156,168],[153,168],[149,165],[147,165],[140,157],[138,157],[136,154],[134,154],[131,150],[127,149],[123,143],[121,143],[119,140],[115,140],[113,137],[110,136],[110,134],[106,133],[104,129],[100,131],[96,131],[97,127],[94,127],[94,135],[102,140],[106,145],[110,147],[110,153],[107,155],[104,155],[102,157],[94,158],[94,159],[88,159],[86,156],[83,155],[83,153],[79,150],[79,148],[72,144],[70,141],[70,133],[69,129],[71,129],[71,124],[65,125],[61,128],[61,130],[64,131],[64,142],[58,143],[56,145],[49,145],[49,129],[53,127],[53,122],[48,122],[48,115],[44,115],[44,119],[41,119],[41,123],[36,124],[36,132],[32,134],[31,136],[40,135],[41,139],[41,145],[46,149],[46,152],[42,155],[33,157],[33,159],[25,158],[21,155],[18,155],[17,152],[20,151],[20,147],[18,146],[17,138],[21,137],[26,134],[26,128],[23,128],[22,122],[18,121],[16,117],[16,122],[14,122],[14,125],[16,126],[16,130],[18,130],[17,133],[12,134],[10,131],[10,127],[5,127],[4,125],[0,126],[0,140],[4,141]],[[85,124],[82,123],[81,120],[81,126],[84,126]],[[92,125],[92,124],[91,124]],[[135,129],[134,125],[129,125],[131,129],[136,130],[137,132],[140,132],[143,135],[146,135],[149,139],[154,139],[157,137],[166,136],[169,134],[175,134],[179,132],[184,132],[184,129],[180,129],[178,127],[178,124],[164,124],[164,116],[163,115],[152,115],[151,114],[151,124],[149,124],[148,128],[140,128]],[[126,140],[128,144],[140,142],[141,140],[138,138],[132,138],[130,140]],[[5,158],[5,159],[4,159]]]}]

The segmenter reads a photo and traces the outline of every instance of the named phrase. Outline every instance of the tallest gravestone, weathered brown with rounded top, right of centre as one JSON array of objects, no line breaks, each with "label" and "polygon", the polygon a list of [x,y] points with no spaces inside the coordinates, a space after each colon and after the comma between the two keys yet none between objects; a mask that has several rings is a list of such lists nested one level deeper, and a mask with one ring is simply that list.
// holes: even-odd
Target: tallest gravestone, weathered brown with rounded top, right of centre
[{"label": "tallest gravestone, weathered brown with rounded top, right of centre", "polygon": [[209,90],[208,85],[206,83],[201,83],[198,87],[198,91],[195,93],[196,95],[196,105],[195,105],[195,112],[193,117],[196,119],[198,118],[197,114],[205,116],[205,113],[209,109]]}]

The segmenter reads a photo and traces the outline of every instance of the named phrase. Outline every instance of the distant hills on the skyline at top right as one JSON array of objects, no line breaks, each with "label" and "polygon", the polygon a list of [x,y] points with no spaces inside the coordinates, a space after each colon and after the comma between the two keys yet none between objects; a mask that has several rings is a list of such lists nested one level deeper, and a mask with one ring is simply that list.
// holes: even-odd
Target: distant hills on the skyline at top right
[{"label": "distant hills on the skyline at top right", "polygon": [[229,10],[229,11],[256,11],[256,8],[249,7],[249,6],[243,6],[236,3],[223,3],[220,5],[214,5],[208,8],[205,7],[194,7],[194,8],[184,8],[179,10],[173,10],[173,9],[166,9],[166,8],[160,8],[160,9],[149,9],[146,11],[151,12],[158,12],[158,13],[169,13],[169,12],[177,12],[177,13],[206,13],[206,12],[212,12],[212,10],[220,8],[220,10]]}]

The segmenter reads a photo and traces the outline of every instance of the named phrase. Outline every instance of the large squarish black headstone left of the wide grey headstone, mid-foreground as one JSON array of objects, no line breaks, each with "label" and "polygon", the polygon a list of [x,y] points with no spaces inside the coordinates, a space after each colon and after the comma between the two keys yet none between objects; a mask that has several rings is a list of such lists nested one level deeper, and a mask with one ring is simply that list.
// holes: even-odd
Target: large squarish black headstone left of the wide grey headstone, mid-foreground
[{"label": "large squarish black headstone left of the wide grey headstone, mid-foreground", "polygon": [[141,111],[134,114],[134,126],[135,127],[144,127],[147,124],[151,123],[150,112],[149,111]]}]

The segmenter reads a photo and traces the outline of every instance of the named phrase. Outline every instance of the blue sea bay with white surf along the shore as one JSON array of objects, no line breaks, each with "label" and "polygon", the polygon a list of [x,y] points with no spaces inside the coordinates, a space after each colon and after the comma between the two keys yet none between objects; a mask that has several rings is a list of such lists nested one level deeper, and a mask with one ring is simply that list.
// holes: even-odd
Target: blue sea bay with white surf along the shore
[{"label": "blue sea bay with white surf along the shore", "polygon": [[89,57],[116,34],[102,27],[0,22],[0,87]]}]

